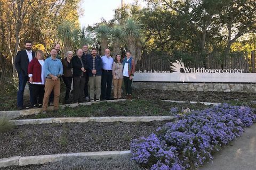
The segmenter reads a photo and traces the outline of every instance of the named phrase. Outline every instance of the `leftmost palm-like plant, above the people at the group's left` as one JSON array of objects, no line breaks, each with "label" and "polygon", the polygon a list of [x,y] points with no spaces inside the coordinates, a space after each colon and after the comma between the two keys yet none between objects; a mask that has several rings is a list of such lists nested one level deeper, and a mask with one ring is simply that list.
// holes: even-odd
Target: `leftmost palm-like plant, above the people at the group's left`
[{"label": "leftmost palm-like plant, above the people at the group's left", "polygon": [[63,44],[63,53],[72,49],[73,45],[73,26],[69,21],[64,21],[58,27],[58,35]]}]

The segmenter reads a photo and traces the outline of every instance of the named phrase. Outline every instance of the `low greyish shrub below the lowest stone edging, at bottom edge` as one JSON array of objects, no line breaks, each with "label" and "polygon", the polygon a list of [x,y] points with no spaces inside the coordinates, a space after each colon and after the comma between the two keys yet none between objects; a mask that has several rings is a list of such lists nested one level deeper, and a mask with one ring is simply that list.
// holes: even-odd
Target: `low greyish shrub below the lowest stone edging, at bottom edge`
[{"label": "low greyish shrub below the lowest stone edging, at bottom edge", "polygon": [[60,162],[44,165],[39,170],[140,170],[141,168],[126,157],[93,160],[86,157],[67,158]]}]

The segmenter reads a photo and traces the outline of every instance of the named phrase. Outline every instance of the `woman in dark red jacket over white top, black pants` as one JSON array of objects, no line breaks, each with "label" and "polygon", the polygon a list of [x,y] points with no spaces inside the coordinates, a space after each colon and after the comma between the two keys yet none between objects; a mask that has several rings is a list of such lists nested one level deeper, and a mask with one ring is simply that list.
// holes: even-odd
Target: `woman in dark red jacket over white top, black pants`
[{"label": "woman in dark red jacket over white top, black pants", "polygon": [[29,86],[33,98],[31,106],[34,108],[42,107],[44,98],[45,77],[43,72],[43,58],[44,52],[37,50],[35,58],[28,64]]}]

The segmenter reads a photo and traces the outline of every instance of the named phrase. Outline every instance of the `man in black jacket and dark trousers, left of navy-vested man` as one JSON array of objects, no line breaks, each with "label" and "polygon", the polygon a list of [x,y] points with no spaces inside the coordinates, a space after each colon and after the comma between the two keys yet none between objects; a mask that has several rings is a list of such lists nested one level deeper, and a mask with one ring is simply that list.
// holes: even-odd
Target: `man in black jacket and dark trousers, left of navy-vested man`
[{"label": "man in black jacket and dark trousers, left of navy-vested man", "polygon": [[73,65],[73,99],[75,103],[81,103],[83,101],[87,63],[86,59],[82,56],[83,50],[77,49],[76,56],[71,60]]}]

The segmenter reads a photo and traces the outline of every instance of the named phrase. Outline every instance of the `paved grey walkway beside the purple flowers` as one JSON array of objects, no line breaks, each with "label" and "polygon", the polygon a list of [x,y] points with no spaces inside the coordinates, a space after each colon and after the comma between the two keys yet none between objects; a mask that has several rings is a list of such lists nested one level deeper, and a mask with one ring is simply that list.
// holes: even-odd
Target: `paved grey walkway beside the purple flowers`
[{"label": "paved grey walkway beside the purple flowers", "polygon": [[200,170],[255,170],[256,169],[256,124],[246,128],[242,137],[213,156],[213,163]]}]

